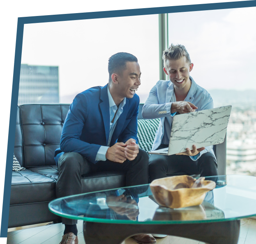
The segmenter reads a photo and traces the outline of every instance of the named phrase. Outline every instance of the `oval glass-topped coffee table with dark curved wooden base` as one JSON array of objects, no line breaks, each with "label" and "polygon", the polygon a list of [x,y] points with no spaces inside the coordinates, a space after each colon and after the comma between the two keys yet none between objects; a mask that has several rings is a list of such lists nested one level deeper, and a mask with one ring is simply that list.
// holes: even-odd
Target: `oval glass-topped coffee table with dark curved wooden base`
[{"label": "oval glass-topped coffee table with dark curved wooden base", "polygon": [[206,179],[215,181],[216,188],[199,206],[159,206],[147,184],[59,198],[49,203],[49,209],[61,217],[82,219],[86,244],[120,244],[140,233],[237,244],[240,219],[256,216],[256,177]]}]

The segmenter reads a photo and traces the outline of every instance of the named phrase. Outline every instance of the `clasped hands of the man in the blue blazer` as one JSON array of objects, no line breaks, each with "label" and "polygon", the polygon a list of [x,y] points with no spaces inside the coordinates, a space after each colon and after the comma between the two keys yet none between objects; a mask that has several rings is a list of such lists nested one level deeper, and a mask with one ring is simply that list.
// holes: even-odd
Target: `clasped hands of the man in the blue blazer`
[{"label": "clasped hands of the man in the blue blazer", "polygon": [[126,143],[117,142],[107,149],[106,158],[110,161],[123,163],[126,159],[134,160],[139,153],[139,146],[134,139],[129,139]]}]

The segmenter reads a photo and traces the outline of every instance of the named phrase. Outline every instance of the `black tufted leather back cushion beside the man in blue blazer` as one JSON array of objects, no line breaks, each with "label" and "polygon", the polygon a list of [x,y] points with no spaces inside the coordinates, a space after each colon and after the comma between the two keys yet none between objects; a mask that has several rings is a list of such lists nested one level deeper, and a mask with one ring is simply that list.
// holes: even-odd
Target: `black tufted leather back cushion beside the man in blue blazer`
[{"label": "black tufted leather back cushion beside the man in blue blazer", "polygon": [[25,167],[55,165],[54,152],[59,147],[69,105],[23,104],[20,108]]}]

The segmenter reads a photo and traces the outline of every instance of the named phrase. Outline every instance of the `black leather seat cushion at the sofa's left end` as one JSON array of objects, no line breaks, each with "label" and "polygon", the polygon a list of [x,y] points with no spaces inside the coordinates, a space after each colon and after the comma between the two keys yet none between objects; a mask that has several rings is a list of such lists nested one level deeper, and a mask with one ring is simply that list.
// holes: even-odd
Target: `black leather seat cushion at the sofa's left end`
[{"label": "black leather seat cushion at the sofa's left end", "polygon": [[12,172],[10,205],[51,201],[56,198],[55,186],[55,179],[27,169]]}]

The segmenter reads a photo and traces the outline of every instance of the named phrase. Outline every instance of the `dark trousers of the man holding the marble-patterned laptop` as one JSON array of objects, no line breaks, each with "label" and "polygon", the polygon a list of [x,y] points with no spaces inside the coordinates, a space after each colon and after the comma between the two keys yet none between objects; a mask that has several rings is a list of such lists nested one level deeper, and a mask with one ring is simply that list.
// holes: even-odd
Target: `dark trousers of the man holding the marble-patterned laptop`
[{"label": "dark trousers of the man holding the marble-patterned laptop", "polygon": [[[168,145],[161,144],[158,149],[166,147]],[[193,161],[190,156],[175,154],[169,156],[151,154],[149,157],[150,182],[180,171],[187,174],[200,174],[201,177],[218,175],[216,159],[210,152],[201,155],[196,161]]]}]

